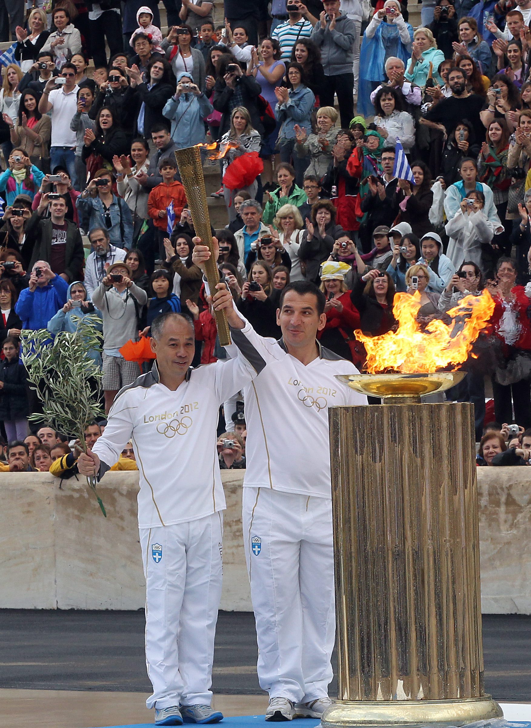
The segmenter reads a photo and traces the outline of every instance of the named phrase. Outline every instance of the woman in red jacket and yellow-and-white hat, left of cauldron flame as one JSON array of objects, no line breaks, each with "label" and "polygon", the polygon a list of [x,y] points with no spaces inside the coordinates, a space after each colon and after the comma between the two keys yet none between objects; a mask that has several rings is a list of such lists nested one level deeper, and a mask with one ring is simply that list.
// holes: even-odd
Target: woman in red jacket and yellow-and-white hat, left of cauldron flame
[{"label": "woman in red jacket and yellow-and-white hat, left of cauldron flame", "polygon": [[352,304],[351,292],[347,290],[344,278],[351,266],[336,261],[326,261],[321,268],[321,290],[327,297],[324,313],[327,323],[317,338],[322,346],[340,357],[353,361],[362,360],[362,347],[354,338],[359,328],[359,312]]}]

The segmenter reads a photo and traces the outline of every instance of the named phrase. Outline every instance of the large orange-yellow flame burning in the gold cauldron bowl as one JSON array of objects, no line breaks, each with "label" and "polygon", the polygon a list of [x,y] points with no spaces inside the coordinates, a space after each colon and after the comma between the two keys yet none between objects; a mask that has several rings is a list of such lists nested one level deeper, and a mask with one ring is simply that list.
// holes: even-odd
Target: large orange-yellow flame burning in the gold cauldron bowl
[{"label": "large orange-yellow flame burning in the gold cauldron bowl", "polygon": [[458,306],[447,314],[452,322],[447,325],[434,319],[424,331],[416,320],[420,309],[420,293],[396,293],[393,313],[399,323],[396,331],[383,336],[365,336],[355,331],[358,341],[367,352],[367,371],[371,374],[393,370],[402,373],[430,373],[452,367],[455,369],[468,358],[472,344],[484,329],[492,312],[494,301],[487,290],[481,296],[465,296]]}]

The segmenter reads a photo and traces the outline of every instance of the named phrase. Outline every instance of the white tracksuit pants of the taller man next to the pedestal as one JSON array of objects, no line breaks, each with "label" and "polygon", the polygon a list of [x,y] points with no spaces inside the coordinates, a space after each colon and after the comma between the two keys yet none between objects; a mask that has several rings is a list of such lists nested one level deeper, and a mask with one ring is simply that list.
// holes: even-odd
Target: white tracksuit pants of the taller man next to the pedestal
[{"label": "white tracksuit pants of the taller man next to the pedestal", "polygon": [[294,703],[328,695],[335,640],[332,502],[244,488],[258,681]]}]

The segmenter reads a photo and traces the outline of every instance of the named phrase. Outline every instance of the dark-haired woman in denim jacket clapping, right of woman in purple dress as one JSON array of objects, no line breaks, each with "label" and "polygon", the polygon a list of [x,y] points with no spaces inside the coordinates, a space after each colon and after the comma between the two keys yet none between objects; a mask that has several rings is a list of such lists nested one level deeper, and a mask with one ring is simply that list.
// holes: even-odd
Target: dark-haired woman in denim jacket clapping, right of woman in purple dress
[{"label": "dark-haired woman in denim jacket clapping, right of woman in purple dress", "polygon": [[275,107],[277,122],[282,126],[279,131],[277,145],[280,149],[282,162],[291,162],[295,167],[295,179],[297,184],[303,186],[304,170],[310,161],[308,157],[298,157],[294,147],[295,124],[311,133],[311,111],[314,108],[314,92],[306,86],[306,75],[300,63],[287,63],[286,76],[288,87],[277,86],[275,95],[278,103]]}]

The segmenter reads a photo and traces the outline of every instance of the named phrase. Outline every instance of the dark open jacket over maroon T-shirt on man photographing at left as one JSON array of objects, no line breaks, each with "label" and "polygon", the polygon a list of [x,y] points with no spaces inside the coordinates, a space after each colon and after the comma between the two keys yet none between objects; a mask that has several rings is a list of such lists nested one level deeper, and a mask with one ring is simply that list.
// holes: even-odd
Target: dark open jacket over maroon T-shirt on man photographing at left
[{"label": "dark open jacket over maroon T-shirt on man photographing at left", "polygon": [[[81,233],[78,226],[65,220],[66,248],[65,248],[65,274],[70,282],[83,279],[84,249]],[[28,232],[31,233],[28,236]],[[29,238],[29,239],[28,239]],[[52,218],[42,220],[37,213],[33,213],[26,225],[26,239],[23,245],[23,258],[30,258],[29,268],[36,261],[49,261],[52,255]],[[54,271],[56,272],[56,271]]]}]

